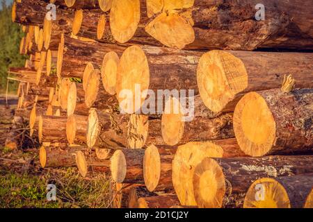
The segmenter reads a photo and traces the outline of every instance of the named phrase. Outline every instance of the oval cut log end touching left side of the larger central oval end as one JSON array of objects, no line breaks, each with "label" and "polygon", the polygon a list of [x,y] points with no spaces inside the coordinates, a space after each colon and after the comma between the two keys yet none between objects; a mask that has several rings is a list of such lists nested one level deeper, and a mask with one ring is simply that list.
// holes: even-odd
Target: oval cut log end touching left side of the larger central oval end
[{"label": "oval cut log end touching left side of the larger central oval end", "polygon": [[118,75],[118,63],[120,62],[120,58],[118,58],[118,54],[114,51],[106,53],[104,59],[102,61],[101,67],[101,78],[102,84],[106,92],[111,95],[114,95],[115,87],[116,87],[116,79]]}]

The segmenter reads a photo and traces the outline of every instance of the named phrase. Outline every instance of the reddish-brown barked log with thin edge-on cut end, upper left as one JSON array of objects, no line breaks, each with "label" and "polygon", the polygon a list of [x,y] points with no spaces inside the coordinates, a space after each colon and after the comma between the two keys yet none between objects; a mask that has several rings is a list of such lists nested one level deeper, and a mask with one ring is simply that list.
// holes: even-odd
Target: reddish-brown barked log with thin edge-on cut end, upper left
[{"label": "reddish-brown barked log with thin edge-on cut end, upper left", "polygon": [[88,62],[92,62],[97,69],[102,65],[106,53],[115,51],[121,55],[124,49],[124,46],[87,42],[64,36],[64,42],[61,41],[58,49],[57,74],[63,77],[83,78],[83,71]]}]

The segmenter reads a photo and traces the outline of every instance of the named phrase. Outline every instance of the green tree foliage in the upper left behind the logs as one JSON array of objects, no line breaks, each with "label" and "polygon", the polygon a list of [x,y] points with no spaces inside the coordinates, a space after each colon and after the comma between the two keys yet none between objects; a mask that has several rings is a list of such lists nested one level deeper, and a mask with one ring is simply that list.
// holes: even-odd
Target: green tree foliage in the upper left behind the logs
[{"label": "green tree foliage in the upper left behind the logs", "polygon": [[[11,19],[12,6],[6,6],[2,0],[0,11],[0,92],[6,92],[8,67],[21,67],[25,64],[25,56],[19,54],[19,42],[24,33],[21,26]],[[11,83],[9,91],[17,89],[17,83]]]}]

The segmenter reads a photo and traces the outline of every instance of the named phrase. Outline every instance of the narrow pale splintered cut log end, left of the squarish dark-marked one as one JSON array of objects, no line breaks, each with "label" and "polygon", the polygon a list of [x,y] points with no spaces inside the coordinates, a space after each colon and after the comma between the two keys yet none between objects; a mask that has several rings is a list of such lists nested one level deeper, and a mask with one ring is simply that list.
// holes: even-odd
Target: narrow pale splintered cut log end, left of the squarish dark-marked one
[{"label": "narrow pale splintered cut log end, left of the squarish dark-marked one", "polygon": [[97,116],[97,111],[95,109],[90,109],[88,116],[87,125],[87,146],[93,147],[97,141],[97,136],[99,135],[99,119]]}]

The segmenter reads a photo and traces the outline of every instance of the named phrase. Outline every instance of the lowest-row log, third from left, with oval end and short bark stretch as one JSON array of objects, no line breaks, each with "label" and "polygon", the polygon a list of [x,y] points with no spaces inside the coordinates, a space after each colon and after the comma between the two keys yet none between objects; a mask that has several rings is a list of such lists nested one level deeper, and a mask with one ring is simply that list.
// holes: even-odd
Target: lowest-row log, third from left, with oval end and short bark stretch
[{"label": "lowest-row log, third from left, with oval end and short bark stretch", "polygon": [[143,149],[121,149],[111,157],[111,174],[115,182],[144,184]]}]

